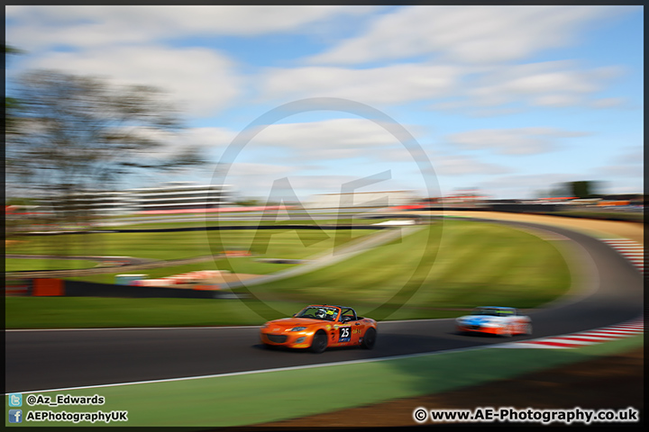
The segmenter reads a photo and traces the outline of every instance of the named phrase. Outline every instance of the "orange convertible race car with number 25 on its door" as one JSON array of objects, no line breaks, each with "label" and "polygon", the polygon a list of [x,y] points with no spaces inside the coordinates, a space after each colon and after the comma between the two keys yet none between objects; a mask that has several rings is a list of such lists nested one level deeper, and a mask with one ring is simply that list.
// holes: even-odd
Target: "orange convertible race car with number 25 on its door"
[{"label": "orange convertible race car with number 25 on its door", "polygon": [[309,348],[322,353],[327,347],[374,347],[377,323],[356,315],[352,308],[329,304],[307,306],[293,318],[272,320],[261,327],[261,342],[269,347]]}]

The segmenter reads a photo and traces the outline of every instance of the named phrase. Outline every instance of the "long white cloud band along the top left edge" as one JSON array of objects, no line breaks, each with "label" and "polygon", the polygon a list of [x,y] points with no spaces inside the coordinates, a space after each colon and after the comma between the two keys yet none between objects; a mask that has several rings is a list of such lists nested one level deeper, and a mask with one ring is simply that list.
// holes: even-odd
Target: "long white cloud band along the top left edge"
[{"label": "long white cloud band along the top left edge", "polygon": [[7,40],[23,49],[57,45],[98,47],[141,44],[184,36],[254,36],[304,31],[342,14],[367,14],[364,6],[130,5],[7,6]]}]

